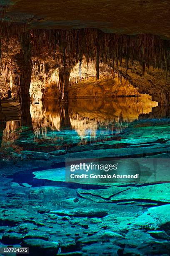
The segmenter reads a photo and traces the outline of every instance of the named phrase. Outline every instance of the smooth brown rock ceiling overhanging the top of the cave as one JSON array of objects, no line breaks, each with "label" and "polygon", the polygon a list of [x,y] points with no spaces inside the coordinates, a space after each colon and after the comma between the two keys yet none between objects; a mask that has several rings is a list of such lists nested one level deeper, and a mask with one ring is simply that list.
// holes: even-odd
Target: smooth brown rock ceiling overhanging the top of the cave
[{"label": "smooth brown rock ceiling overhanging the top of the cave", "polygon": [[106,33],[152,33],[170,38],[169,0],[1,0],[6,19],[28,29],[99,28]]}]

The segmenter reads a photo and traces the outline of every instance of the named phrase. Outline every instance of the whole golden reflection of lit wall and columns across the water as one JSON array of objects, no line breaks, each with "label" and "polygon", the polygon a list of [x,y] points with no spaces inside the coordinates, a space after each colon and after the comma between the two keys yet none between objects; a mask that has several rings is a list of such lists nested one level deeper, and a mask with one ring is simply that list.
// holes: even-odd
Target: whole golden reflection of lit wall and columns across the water
[{"label": "whole golden reflection of lit wall and columns across the water", "polygon": [[[123,97],[112,100],[81,99],[70,100],[69,105],[58,105],[50,100],[31,103],[30,111],[25,105],[21,109],[21,120],[8,121],[4,130],[3,140],[15,141],[21,126],[32,127],[35,138],[43,138],[47,131],[63,129],[75,130],[80,138],[95,137],[98,129],[112,130],[119,133],[128,123],[138,119],[141,114],[148,114],[158,105],[150,96]],[[15,116],[15,115],[14,115]]]}]

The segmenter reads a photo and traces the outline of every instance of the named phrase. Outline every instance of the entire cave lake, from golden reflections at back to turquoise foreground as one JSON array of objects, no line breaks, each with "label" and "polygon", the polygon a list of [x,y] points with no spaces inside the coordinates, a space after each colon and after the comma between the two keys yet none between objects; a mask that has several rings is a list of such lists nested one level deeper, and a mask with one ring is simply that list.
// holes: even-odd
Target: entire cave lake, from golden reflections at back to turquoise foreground
[{"label": "entire cave lake, from golden reflections at back to turquoise foreground", "polygon": [[146,102],[130,99],[130,110],[128,101],[40,102],[1,124],[1,245],[30,255],[169,255],[168,180],[65,182],[70,158],[169,159],[167,109],[149,104],[143,113]]}]

